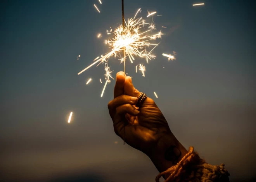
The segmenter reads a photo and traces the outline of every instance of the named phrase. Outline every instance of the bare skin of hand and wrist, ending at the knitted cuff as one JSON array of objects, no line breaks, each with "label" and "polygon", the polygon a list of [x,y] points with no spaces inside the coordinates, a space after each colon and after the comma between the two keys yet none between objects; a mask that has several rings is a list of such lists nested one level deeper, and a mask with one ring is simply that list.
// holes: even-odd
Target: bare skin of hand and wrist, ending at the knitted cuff
[{"label": "bare skin of hand and wrist, ending at the knitted cuff", "polygon": [[171,133],[170,127],[154,100],[147,97],[140,108],[135,107],[139,92],[131,77],[120,71],[116,75],[114,99],[108,104],[115,133],[128,145],[145,153],[159,172],[175,165],[187,150]]}]

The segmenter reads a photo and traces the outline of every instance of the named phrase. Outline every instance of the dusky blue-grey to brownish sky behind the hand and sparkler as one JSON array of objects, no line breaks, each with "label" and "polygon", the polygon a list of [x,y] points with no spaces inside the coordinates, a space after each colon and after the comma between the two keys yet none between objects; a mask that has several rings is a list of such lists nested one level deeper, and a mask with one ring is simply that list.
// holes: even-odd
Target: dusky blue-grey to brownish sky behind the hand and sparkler
[{"label": "dusky blue-grey to brownish sky behind the hand and sparkler", "polygon": [[[256,171],[253,7],[240,0],[125,0],[126,19],[138,8],[144,18],[157,11],[156,28],[164,33],[145,78],[129,62],[127,75],[155,100],[185,148],[194,146],[213,165],[225,163],[235,182],[255,179]],[[1,1],[1,179],[154,181],[150,159],[114,133],[107,110],[114,80],[100,97],[104,66],[77,75],[108,51],[106,29],[121,23],[121,0]],[[174,61],[162,56],[173,51]],[[115,76],[123,65],[110,61]]]}]

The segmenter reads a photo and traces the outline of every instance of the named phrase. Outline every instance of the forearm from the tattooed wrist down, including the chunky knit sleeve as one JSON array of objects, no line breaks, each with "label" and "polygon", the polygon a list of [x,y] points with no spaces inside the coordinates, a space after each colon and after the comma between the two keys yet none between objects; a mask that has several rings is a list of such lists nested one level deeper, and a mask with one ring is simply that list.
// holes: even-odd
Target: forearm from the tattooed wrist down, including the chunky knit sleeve
[{"label": "forearm from the tattooed wrist down, including the chunky knit sleeve", "polygon": [[211,182],[229,181],[229,173],[224,168],[224,164],[214,166],[206,163],[192,146],[187,151],[173,134],[161,138],[157,147],[148,156],[160,172],[156,177],[158,182],[161,176],[166,182],[206,179]]}]

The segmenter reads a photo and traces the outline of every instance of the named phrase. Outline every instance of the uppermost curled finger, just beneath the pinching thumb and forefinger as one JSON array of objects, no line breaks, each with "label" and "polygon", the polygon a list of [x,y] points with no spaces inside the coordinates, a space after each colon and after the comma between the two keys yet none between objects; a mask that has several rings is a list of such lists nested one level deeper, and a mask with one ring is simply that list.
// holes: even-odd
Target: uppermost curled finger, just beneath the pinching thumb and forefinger
[{"label": "uppermost curled finger, just beneath the pinching thumb and forefinger", "polygon": [[137,97],[131,97],[130,95],[120,95],[118,97],[116,97],[115,99],[111,100],[109,102],[109,104],[107,105],[107,107],[109,108],[109,114],[110,116],[114,117],[114,115],[116,114],[116,108],[120,105],[123,104],[131,104],[131,105],[135,105],[138,102],[138,98]]}]

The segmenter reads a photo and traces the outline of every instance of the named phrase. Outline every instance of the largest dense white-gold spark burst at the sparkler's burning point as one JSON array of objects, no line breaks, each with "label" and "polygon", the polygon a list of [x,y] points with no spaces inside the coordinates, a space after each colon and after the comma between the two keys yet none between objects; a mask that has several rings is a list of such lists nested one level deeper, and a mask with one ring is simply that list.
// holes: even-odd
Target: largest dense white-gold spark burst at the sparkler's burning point
[{"label": "largest dense white-gold spark burst at the sparkler's burning point", "polygon": [[[150,15],[155,13],[156,12],[150,13]],[[125,55],[123,58],[119,59],[121,63],[124,62],[125,58],[129,58],[131,63],[133,63],[135,56],[138,58],[145,58],[148,63],[149,60],[155,57],[152,55],[152,51],[158,45],[151,43],[150,41],[155,40],[156,38],[161,38],[161,35],[163,34],[161,31],[154,35],[147,34],[147,32],[151,30],[143,31],[144,24],[148,23],[145,23],[145,20],[142,19],[142,17],[138,19],[130,18],[128,21],[125,21],[125,26],[120,25],[114,29],[113,36],[107,41],[110,51],[104,56],[102,55],[101,58],[97,59],[84,70],[80,71],[78,75],[97,63],[99,65],[100,63],[107,62],[106,60],[109,60],[112,56],[116,57],[118,53],[123,53],[124,49]],[[110,34],[108,30],[107,34]],[[151,50],[147,50],[150,46],[154,47]]]}]

